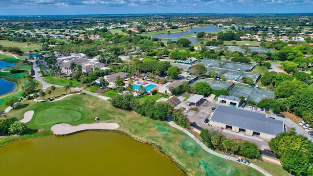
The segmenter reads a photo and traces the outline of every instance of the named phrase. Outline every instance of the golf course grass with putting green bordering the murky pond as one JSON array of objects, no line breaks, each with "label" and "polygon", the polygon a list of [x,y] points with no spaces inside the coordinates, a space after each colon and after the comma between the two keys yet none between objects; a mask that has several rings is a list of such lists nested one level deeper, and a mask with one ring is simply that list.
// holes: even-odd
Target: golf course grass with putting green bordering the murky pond
[{"label": "golf course grass with putting green bordering the murky pond", "polygon": [[[28,103],[23,102],[24,105]],[[244,164],[208,154],[184,132],[169,126],[166,121],[143,117],[133,111],[115,109],[109,102],[91,95],[72,95],[54,102],[32,101],[27,107],[12,110],[7,115],[20,120],[28,110],[34,110],[35,113],[26,125],[38,132],[22,137],[34,137],[41,133],[51,135],[50,128],[54,124],[94,123],[94,118],[99,117],[100,122],[118,123],[118,130],[137,139],[160,144],[190,176],[262,176],[260,172]],[[3,141],[9,141],[8,138],[10,137],[1,138],[0,145]]]}]

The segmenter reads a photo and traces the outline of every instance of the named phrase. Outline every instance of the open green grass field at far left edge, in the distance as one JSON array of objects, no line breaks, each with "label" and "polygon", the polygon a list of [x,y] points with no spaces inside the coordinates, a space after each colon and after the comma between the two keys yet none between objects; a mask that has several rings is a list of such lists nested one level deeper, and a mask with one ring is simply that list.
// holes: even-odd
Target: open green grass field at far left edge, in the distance
[{"label": "open green grass field at far left edge, in the distance", "polygon": [[0,40],[0,45],[3,47],[18,47],[22,52],[28,52],[29,50],[34,51],[35,49],[39,51],[41,49],[40,44],[31,43],[29,46],[27,46],[27,42],[20,43],[8,40]]}]

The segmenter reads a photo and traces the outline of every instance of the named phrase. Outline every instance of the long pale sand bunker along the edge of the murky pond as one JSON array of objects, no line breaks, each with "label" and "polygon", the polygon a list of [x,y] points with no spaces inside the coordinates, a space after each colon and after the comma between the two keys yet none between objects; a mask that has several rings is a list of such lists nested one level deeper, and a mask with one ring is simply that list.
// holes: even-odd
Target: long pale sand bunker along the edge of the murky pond
[{"label": "long pale sand bunker along the edge of the murky pond", "polygon": [[117,123],[79,124],[77,126],[71,126],[69,124],[62,123],[53,125],[51,130],[56,135],[65,135],[84,130],[114,130],[118,127],[119,125]]}]

